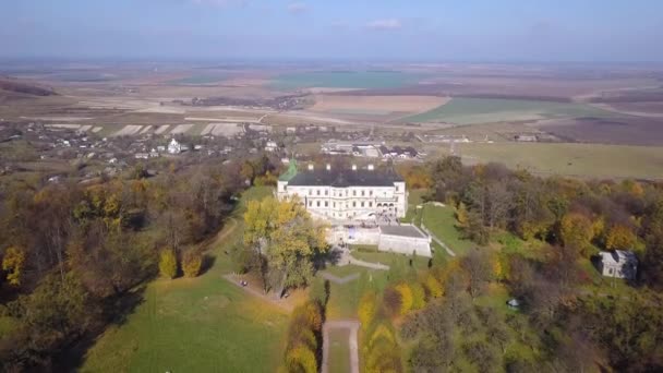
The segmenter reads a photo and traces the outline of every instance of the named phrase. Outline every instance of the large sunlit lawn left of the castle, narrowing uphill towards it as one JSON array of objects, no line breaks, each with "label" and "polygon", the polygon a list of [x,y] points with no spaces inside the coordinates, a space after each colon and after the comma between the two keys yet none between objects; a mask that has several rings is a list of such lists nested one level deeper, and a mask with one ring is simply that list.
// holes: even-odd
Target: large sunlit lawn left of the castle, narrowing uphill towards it
[{"label": "large sunlit lawn left of the castle, narrowing uphill towards it", "polygon": [[[253,189],[243,202],[270,189]],[[241,210],[214,244],[213,266],[197,278],[157,279],[121,325],[110,326],[87,352],[82,372],[274,372],[288,315],[221,278],[224,253],[241,240]]]}]

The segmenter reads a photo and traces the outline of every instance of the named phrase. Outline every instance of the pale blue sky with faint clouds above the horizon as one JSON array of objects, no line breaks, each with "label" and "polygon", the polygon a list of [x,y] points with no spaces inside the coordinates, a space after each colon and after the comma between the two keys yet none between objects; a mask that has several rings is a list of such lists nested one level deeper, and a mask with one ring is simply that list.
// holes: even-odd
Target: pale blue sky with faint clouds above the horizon
[{"label": "pale blue sky with faint clouds above the horizon", "polygon": [[654,0],[0,0],[0,58],[663,61]]}]

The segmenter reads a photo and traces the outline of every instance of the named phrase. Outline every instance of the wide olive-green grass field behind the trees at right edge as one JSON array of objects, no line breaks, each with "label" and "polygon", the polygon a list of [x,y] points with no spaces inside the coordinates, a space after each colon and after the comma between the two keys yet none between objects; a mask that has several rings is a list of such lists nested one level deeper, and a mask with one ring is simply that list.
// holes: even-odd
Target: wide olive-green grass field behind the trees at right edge
[{"label": "wide olive-green grass field behind the trees at right edge", "polygon": [[543,176],[663,179],[663,147],[495,143],[457,147],[466,164],[496,161]]}]

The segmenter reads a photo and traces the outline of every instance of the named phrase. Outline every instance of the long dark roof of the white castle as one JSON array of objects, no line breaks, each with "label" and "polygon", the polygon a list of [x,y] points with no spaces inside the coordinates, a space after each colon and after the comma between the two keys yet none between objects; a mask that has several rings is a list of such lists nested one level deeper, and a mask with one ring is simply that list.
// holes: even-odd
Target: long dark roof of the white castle
[{"label": "long dark roof of the white castle", "polygon": [[288,182],[297,186],[394,186],[403,181],[396,172],[378,170],[308,170],[300,171]]}]

